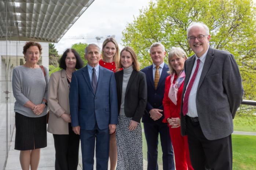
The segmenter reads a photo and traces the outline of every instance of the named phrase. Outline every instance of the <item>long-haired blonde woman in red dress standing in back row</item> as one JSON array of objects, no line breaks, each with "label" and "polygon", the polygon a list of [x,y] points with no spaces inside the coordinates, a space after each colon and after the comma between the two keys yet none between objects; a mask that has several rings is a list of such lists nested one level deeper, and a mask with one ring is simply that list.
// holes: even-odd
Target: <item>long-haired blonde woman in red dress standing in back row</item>
[{"label": "long-haired blonde woman in red dress standing in back row", "polygon": [[[114,38],[107,38],[102,44],[102,59],[99,60],[99,65],[113,72],[116,72],[116,64],[120,60],[119,48]],[[110,134],[109,142],[109,159],[110,170],[116,170],[117,165],[117,145],[116,132]]]}]

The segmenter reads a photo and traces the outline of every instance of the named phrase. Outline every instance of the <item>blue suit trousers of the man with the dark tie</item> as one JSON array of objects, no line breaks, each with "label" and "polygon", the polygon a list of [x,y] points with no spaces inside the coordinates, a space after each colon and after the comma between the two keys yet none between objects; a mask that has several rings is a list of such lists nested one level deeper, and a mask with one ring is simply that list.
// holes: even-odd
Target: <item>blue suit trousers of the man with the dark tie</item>
[{"label": "blue suit trousers of the man with the dark tie", "polygon": [[96,170],[107,170],[109,136],[109,128],[99,129],[97,125],[92,130],[80,129],[83,170],[94,169],[94,150],[96,153]]}]

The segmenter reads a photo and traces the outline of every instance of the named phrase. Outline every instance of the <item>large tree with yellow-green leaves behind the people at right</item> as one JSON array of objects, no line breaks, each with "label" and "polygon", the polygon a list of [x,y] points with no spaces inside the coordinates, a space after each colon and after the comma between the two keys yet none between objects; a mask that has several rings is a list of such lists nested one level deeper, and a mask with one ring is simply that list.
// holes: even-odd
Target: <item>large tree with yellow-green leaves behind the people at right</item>
[{"label": "large tree with yellow-green leaves behind the people at right", "polygon": [[[127,24],[122,41],[134,48],[145,67],[151,64],[149,47],[153,42],[164,44],[167,52],[172,46],[179,46],[191,56],[187,27],[193,21],[204,22],[210,29],[211,46],[234,54],[242,75],[244,98],[256,100],[255,14],[255,4],[250,0],[156,0]],[[238,115],[255,112],[255,107],[241,106]]]}]

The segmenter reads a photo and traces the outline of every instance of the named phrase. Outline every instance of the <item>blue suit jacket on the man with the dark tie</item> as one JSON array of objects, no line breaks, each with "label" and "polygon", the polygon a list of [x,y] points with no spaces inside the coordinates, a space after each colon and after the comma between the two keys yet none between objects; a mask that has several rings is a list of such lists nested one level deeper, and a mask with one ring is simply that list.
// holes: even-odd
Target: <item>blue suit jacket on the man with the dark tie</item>
[{"label": "blue suit jacket on the man with the dark tie", "polygon": [[88,73],[88,67],[73,72],[69,92],[72,126],[92,130],[109,128],[118,123],[117,90],[114,73],[99,66],[96,93]]}]

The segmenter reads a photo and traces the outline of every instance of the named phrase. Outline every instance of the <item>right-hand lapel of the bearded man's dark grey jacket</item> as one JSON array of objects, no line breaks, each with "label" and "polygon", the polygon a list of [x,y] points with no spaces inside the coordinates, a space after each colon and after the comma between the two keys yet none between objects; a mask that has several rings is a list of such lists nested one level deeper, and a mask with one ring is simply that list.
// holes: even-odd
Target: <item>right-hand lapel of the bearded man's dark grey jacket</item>
[{"label": "right-hand lapel of the bearded man's dark grey jacket", "polygon": [[208,49],[208,52],[206,54],[206,57],[205,57],[205,63],[204,63],[204,67],[203,67],[203,70],[202,70],[202,73],[201,73],[201,76],[200,76],[200,79],[199,79],[199,83],[198,83],[198,86],[197,86],[197,91],[198,89],[200,88],[205,76],[206,76],[206,73],[208,72],[211,64],[212,64],[212,59],[213,59],[213,48],[209,47]]}]

